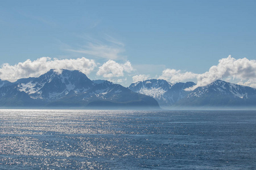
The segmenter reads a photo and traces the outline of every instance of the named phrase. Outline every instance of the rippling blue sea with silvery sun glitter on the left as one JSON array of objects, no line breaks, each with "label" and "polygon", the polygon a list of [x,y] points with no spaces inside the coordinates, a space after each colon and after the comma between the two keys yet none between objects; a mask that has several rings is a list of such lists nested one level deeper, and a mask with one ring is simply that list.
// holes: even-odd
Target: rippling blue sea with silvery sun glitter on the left
[{"label": "rippling blue sea with silvery sun glitter on the left", "polygon": [[0,169],[256,169],[256,111],[2,109]]}]

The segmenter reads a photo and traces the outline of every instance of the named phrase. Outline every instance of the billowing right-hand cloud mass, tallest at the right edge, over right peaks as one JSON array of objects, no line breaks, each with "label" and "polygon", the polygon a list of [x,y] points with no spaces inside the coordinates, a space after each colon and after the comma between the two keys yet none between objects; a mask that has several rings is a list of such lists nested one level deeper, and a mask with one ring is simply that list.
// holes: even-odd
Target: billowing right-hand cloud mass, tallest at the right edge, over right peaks
[{"label": "billowing right-hand cloud mass, tallest at the right edge, over right peaks", "polygon": [[217,66],[210,67],[203,74],[195,74],[175,69],[163,70],[159,79],[165,79],[171,83],[196,79],[197,84],[187,90],[195,90],[197,87],[206,86],[217,79],[236,82],[241,85],[256,87],[256,61],[247,58],[235,59],[231,56],[222,58]]}]

